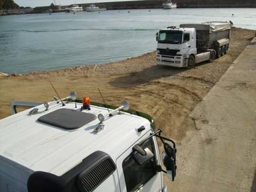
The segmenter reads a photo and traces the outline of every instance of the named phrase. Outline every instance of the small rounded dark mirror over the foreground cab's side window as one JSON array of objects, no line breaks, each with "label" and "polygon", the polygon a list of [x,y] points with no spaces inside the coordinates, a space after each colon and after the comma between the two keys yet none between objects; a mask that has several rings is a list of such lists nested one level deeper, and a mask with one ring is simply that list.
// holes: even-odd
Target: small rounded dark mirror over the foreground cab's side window
[{"label": "small rounded dark mirror over the foreground cab's side window", "polygon": [[133,147],[133,155],[131,156],[134,158],[134,161],[136,163],[138,163],[139,165],[144,165],[154,157],[154,154],[151,152],[149,148],[143,149],[141,146],[136,144]]}]

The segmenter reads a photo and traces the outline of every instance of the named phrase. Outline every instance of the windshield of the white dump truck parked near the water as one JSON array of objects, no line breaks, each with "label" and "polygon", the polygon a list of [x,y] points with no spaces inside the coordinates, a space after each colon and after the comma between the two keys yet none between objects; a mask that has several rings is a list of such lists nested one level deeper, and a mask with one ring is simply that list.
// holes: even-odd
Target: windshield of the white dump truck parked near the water
[{"label": "windshield of the white dump truck parked near the water", "polygon": [[162,30],[159,32],[158,43],[181,44],[182,31]]}]

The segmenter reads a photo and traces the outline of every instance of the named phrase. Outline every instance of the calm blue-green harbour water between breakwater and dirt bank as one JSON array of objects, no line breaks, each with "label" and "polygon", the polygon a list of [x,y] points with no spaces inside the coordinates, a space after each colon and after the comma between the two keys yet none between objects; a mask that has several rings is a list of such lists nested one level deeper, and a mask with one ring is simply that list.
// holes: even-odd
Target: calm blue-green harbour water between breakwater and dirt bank
[{"label": "calm blue-green harbour water between breakwater and dirt bank", "polygon": [[[232,16],[234,14],[234,16]],[[229,21],[256,29],[256,9],[120,10],[0,17],[0,71],[28,73],[135,57],[156,32],[180,23]]]}]

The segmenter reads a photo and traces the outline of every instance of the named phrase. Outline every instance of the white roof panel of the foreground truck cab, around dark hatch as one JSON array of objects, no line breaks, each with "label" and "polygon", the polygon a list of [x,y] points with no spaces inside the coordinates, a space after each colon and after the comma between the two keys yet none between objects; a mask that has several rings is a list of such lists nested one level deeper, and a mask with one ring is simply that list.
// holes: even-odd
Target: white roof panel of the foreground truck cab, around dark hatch
[{"label": "white roof panel of the foreground truck cab, around dark hatch", "polygon": [[[63,175],[79,164],[82,159],[94,151],[101,150],[115,159],[128,149],[143,134],[151,129],[148,119],[122,112],[107,117],[104,130],[95,133],[98,118],[80,128],[69,130],[39,122],[38,118],[58,109],[80,111],[81,103],[50,102],[45,111],[44,105],[37,106],[38,113],[28,115],[31,109],[0,120],[0,161],[19,166],[29,173],[44,171],[55,175]],[[106,115],[104,107],[91,106],[90,111],[82,113]],[[142,132],[137,132],[141,126]]]}]

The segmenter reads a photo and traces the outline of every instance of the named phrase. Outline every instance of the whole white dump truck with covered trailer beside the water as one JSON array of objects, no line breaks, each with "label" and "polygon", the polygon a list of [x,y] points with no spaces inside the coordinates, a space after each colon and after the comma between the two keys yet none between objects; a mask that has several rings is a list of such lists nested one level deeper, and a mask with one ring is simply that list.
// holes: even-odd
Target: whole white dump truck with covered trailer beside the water
[{"label": "whole white dump truck with covered trailer beside the water", "polygon": [[157,64],[193,68],[196,63],[212,62],[229,49],[231,23],[182,24],[157,33]]}]

